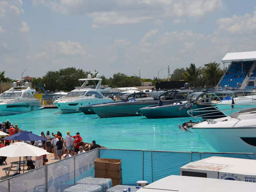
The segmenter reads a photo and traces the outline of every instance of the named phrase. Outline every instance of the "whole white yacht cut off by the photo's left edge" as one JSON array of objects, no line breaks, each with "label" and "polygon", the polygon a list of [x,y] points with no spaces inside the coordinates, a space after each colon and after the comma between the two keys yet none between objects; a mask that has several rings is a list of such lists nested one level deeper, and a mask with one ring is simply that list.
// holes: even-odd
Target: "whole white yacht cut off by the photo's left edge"
[{"label": "whole white yacht cut off by the photo's left edge", "polygon": [[12,88],[0,96],[0,116],[26,113],[41,108],[39,99],[33,97],[34,89],[29,87],[29,82],[23,84],[23,79],[17,79],[21,85],[12,83]]}]

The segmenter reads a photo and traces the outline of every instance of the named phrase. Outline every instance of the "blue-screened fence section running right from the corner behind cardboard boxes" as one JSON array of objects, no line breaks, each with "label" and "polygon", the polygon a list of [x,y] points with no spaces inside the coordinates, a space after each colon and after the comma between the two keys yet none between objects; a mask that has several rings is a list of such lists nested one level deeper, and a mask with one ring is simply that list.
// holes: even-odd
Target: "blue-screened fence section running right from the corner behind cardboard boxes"
[{"label": "blue-screened fence section running right from the corner behind cardboard boxes", "polygon": [[253,153],[99,149],[100,158],[122,160],[123,185],[135,185],[139,180],[151,183],[170,175],[180,175],[180,167],[212,156],[255,159]]}]

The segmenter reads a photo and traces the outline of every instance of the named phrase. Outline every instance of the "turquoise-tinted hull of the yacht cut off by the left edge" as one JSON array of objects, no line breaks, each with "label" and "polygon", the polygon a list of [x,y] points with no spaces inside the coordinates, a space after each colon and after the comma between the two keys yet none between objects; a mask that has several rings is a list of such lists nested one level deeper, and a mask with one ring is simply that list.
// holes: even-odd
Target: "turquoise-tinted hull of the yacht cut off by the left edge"
[{"label": "turquoise-tinted hull of the yacht cut off by the left edge", "polygon": [[39,110],[41,108],[40,101],[17,102],[0,105],[0,116],[27,113]]}]

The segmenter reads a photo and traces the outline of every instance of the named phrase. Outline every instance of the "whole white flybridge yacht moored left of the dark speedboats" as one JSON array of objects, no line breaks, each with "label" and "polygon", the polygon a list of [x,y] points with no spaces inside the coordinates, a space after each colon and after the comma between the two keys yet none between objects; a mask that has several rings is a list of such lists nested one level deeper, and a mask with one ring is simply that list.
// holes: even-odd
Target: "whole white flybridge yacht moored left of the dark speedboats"
[{"label": "whole white flybridge yacht moored left of the dark speedboats", "polygon": [[[102,79],[100,79],[99,74],[96,75],[96,78],[91,78],[91,75],[88,74],[87,79],[79,79],[79,81],[84,82],[81,87],[75,87],[74,90],[70,91],[64,97],[54,101],[53,104],[63,113],[81,112],[79,110],[81,106],[112,101],[112,99],[102,95],[102,91],[109,91],[111,88],[100,89]],[[95,88],[94,86],[89,86],[89,81],[95,84]]]}]

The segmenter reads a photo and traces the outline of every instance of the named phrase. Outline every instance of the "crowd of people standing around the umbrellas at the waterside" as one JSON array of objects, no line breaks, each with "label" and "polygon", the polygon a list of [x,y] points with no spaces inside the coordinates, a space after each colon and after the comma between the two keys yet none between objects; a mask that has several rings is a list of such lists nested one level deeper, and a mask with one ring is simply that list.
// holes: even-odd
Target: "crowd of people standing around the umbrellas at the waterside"
[{"label": "crowd of people standing around the umbrellas at the waterside", "polygon": [[[9,135],[14,135],[15,133],[19,133],[20,129],[18,128],[18,125],[15,124],[13,126],[12,123],[9,122],[9,120],[6,120],[6,122],[0,123],[0,131],[5,132]],[[27,144],[34,145],[39,148],[44,148],[49,153],[54,153],[54,159],[66,159],[69,157],[72,157],[77,154],[85,153],[86,151],[93,150],[95,148],[100,148],[101,146],[96,144],[95,140],[93,140],[93,144],[85,144],[82,145],[83,139],[80,136],[80,133],[75,133],[74,136],[70,135],[70,132],[67,131],[67,135],[65,138],[63,138],[60,131],[57,131],[56,134],[51,133],[49,131],[46,132],[46,135],[44,132],[41,132],[39,135],[42,138],[45,138],[46,140],[37,140],[37,141],[25,141]],[[5,147],[7,145],[10,145],[10,140],[0,140],[0,148]],[[28,156],[25,157],[27,161],[27,169],[35,169],[38,167],[41,167],[45,165],[46,162],[48,162],[46,155],[41,155],[39,157],[35,157],[35,165],[33,164],[32,157]],[[5,158],[6,159],[6,158]],[[3,159],[3,161],[5,160]],[[0,158],[0,165],[2,161]]]}]

